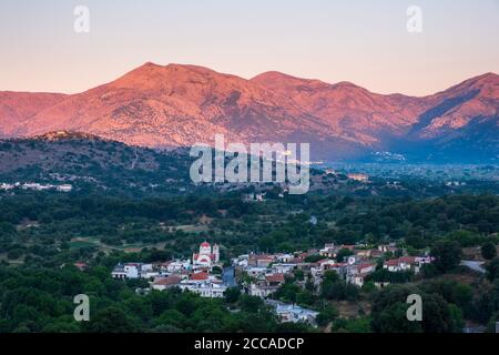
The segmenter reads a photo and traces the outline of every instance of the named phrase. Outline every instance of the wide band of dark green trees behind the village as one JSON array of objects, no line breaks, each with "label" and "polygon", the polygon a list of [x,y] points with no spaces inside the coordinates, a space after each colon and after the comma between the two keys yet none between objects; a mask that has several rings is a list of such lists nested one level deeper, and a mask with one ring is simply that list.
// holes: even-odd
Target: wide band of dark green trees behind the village
[{"label": "wide band of dark green trees behind the village", "polygon": [[[330,242],[398,241],[409,251],[434,246],[436,253],[448,253],[457,252],[456,243],[497,243],[491,235],[499,227],[499,197],[492,195],[404,202],[310,195],[259,204],[244,203],[237,193],[133,199],[39,192],[0,199],[0,254],[45,266],[125,245],[153,248],[166,243],[163,256],[189,255],[203,235],[222,244],[227,257]],[[317,224],[309,223],[310,215]],[[455,243],[447,251],[436,241]],[[455,264],[446,257],[438,262],[441,271]]]}]

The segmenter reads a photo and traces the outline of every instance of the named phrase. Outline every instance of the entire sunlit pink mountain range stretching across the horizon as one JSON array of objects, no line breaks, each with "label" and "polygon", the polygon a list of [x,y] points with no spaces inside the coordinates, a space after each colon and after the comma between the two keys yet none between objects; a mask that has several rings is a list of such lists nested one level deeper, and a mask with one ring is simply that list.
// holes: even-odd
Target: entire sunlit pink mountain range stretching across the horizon
[{"label": "entire sunlit pink mountain range stretching across the horizon", "polygon": [[[203,67],[145,63],[72,94],[0,93],[0,134],[79,131],[132,145],[310,142],[313,159],[390,151],[415,160],[498,159],[499,77],[487,73],[415,98],[349,82],[267,72],[251,80]],[[456,154],[461,152],[461,154]],[[460,156],[461,155],[461,156]]]}]

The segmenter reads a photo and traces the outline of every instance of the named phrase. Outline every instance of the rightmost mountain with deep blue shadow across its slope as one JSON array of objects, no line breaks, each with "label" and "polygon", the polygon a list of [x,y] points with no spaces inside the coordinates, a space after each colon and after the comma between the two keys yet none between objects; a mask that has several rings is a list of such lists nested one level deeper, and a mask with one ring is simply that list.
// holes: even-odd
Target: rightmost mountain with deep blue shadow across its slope
[{"label": "rightmost mountain with deep blue shadow across its slope", "polygon": [[399,151],[429,161],[499,160],[497,74],[466,80],[425,99],[431,108],[418,116],[405,141],[398,143]]}]

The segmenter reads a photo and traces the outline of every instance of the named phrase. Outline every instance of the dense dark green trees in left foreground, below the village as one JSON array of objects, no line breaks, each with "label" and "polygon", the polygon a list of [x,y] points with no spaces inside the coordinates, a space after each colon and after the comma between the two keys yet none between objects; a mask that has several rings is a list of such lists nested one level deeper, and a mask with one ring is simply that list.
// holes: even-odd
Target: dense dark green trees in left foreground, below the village
[{"label": "dense dark green trees in left foreground, below the village", "polygon": [[[90,322],[75,322],[73,298],[90,296]],[[179,290],[135,293],[105,267],[80,272],[0,268],[0,333],[4,332],[281,332],[259,298],[202,298]],[[293,331],[310,331],[306,326]]]}]

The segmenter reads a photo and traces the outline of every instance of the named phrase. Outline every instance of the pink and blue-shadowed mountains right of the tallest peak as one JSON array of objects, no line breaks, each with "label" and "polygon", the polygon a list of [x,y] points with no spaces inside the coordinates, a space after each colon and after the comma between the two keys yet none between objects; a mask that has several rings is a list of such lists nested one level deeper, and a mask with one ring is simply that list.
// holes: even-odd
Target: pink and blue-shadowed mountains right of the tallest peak
[{"label": "pink and blue-shadowed mountains right of the tallest peak", "polygon": [[266,72],[252,81],[292,98],[342,136],[419,161],[498,159],[499,77],[486,73],[434,95],[381,95],[349,82]]}]

